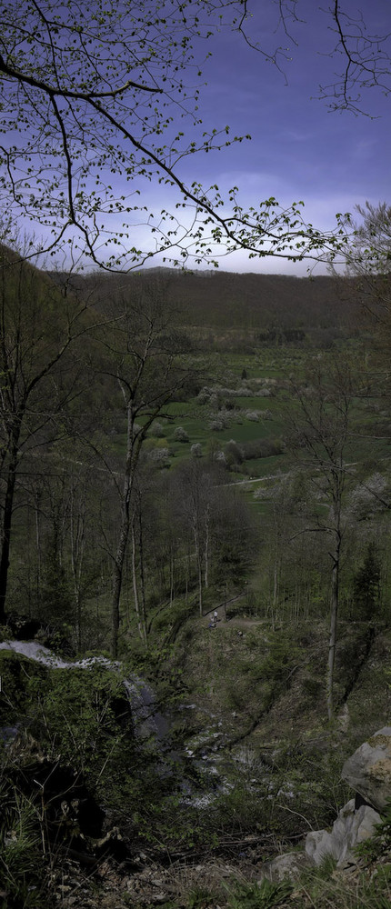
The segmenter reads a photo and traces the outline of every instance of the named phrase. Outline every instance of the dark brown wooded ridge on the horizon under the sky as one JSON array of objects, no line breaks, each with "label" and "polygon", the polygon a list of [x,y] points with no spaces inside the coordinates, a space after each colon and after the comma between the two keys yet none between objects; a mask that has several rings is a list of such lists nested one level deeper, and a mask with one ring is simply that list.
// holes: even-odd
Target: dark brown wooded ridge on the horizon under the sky
[{"label": "dark brown wooded ridge on the horizon under the sky", "polygon": [[303,329],[316,341],[354,334],[359,325],[354,285],[346,278],[320,276],[233,274],[231,272],[180,272],[149,269],[132,275],[94,273],[75,275],[79,292],[93,296],[95,305],[137,292],[154,283],[175,308],[178,325],[191,326],[198,334],[217,336],[234,332],[250,334],[277,329]]}]

